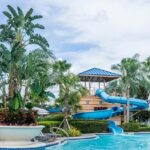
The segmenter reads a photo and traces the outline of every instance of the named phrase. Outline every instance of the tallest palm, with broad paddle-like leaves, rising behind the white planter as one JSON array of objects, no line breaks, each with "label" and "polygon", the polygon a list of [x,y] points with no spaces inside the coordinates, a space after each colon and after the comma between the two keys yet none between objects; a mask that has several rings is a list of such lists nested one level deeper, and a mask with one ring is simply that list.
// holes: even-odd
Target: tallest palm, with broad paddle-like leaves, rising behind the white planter
[{"label": "tallest palm, with broad paddle-like leaves, rising behind the white planter", "polygon": [[[8,99],[14,102],[17,101],[16,97],[20,93],[22,86],[21,72],[26,60],[28,60],[26,57],[29,51],[34,51],[34,45],[36,45],[41,52],[47,53],[50,58],[52,52],[49,50],[47,40],[35,32],[36,29],[44,29],[44,26],[34,22],[42,16],[33,15],[32,8],[24,14],[19,7],[15,10],[8,5],[8,11],[4,11],[3,14],[7,17],[7,23],[0,25],[1,76],[3,74],[7,76],[9,84]],[[25,78],[27,76],[26,74]]]}]

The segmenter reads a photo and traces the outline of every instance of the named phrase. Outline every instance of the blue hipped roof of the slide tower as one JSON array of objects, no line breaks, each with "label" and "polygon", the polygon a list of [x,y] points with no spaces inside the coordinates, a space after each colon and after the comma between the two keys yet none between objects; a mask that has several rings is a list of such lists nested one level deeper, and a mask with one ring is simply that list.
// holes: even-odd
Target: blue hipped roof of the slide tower
[{"label": "blue hipped roof of the slide tower", "polygon": [[101,82],[101,81],[105,81],[105,82],[109,82],[113,79],[117,79],[119,78],[121,75],[110,72],[110,71],[106,71],[106,70],[102,70],[99,68],[92,68],[89,70],[86,70],[84,72],[81,72],[78,74],[80,77],[81,81],[91,81],[91,82]]}]

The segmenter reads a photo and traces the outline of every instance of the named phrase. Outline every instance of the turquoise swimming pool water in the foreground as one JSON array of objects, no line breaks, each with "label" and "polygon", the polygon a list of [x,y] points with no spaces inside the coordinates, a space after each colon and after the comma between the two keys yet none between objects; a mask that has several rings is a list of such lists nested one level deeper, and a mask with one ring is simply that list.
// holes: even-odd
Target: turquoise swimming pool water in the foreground
[{"label": "turquoise swimming pool water in the foreground", "polygon": [[99,135],[96,139],[71,140],[46,150],[150,150],[150,134]]}]

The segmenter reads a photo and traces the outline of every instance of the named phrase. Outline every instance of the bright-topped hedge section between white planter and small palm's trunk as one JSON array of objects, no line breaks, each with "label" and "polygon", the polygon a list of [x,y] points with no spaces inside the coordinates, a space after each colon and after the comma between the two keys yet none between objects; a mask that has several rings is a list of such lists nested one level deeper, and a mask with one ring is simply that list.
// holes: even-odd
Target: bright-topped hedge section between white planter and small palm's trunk
[{"label": "bright-topped hedge section between white planter and small palm's trunk", "polygon": [[45,126],[45,128],[42,131],[44,133],[49,133],[51,127],[59,127],[60,123],[61,123],[60,121],[39,121],[38,122],[39,125]]}]

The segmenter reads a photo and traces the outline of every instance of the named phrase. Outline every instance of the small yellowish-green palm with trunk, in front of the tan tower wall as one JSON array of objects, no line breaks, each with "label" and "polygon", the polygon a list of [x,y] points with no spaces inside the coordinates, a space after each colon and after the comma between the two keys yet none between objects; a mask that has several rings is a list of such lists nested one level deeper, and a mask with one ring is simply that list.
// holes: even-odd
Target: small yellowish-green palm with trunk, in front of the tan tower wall
[{"label": "small yellowish-green palm with trunk, in front of the tan tower wall", "polygon": [[88,93],[87,89],[83,88],[80,84],[79,78],[72,74],[67,73],[61,76],[58,80],[61,85],[61,95],[58,99],[59,103],[64,106],[64,128],[70,128],[67,118],[71,110],[80,108],[79,102],[82,96]]}]

